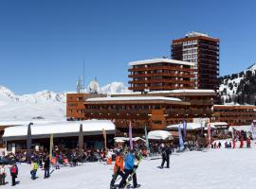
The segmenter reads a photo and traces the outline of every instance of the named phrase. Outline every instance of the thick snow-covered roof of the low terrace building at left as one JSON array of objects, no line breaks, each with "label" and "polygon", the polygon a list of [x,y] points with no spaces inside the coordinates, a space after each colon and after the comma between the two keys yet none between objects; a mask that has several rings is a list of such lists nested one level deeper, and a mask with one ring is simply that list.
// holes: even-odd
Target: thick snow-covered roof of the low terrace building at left
[{"label": "thick snow-covered roof of the low terrace building at left", "polygon": [[[77,136],[82,124],[83,135],[101,134],[102,129],[106,133],[115,133],[116,126],[109,120],[65,121],[47,124],[31,125],[32,138],[45,138],[50,134],[54,136]],[[25,139],[27,137],[27,125],[15,126],[5,129],[4,140],[13,138]]]}]

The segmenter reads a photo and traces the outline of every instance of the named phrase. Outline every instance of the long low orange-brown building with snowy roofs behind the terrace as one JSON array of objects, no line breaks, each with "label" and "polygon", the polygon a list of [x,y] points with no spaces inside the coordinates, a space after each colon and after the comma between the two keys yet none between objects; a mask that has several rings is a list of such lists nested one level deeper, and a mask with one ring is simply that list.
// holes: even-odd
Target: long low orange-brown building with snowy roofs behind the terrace
[{"label": "long low orange-brown building with snowy roofs behind the terrace", "polygon": [[[131,124],[134,134],[142,136],[145,127],[149,130],[165,129],[184,120],[192,122],[194,118],[210,117],[214,95],[212,90],[173,90],[83,98],[83,108],[79,109],[81,114],[77,118],[111,120],[119,136],[127,134]],[[69,94],[66,99],[67,119],[74,120],[76,115],[68,116],[76,109],[70,106],[74,101],[69,101]]]}]

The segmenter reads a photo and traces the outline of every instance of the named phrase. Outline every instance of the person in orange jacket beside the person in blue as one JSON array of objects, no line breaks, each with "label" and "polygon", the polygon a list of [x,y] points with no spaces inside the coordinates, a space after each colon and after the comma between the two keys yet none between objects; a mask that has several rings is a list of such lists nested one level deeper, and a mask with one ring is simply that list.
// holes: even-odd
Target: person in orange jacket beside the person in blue
[{"label": "person in orange jacket beside the person in blue", "polygon": [[121,176],[121,178],[123,178],[124,173],[123,173],[123,157],[122,157],[121,153],[118,151],[117,157],[116,157],[116,163],[114,166],[114,175],[110,182],[110,188],[115,188],[114,184],[119,176]]}]

